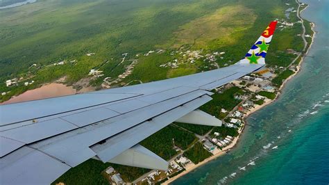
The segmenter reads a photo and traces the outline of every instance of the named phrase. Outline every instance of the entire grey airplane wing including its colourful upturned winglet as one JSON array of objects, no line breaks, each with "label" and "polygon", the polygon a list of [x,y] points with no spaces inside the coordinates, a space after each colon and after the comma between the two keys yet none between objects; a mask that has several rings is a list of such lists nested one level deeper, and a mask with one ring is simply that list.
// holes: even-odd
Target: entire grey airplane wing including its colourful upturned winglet
[{"label": "entire grey airplane wing including its colourful upturned winglet", "polygon": [[49,184],[87,159],[166,169],[138,145],[179,120],[221,126],[197,108],[210,90],[265,65],[271,22],[246,56],[228,67],[185,77],[0,106],[0,184]]}]

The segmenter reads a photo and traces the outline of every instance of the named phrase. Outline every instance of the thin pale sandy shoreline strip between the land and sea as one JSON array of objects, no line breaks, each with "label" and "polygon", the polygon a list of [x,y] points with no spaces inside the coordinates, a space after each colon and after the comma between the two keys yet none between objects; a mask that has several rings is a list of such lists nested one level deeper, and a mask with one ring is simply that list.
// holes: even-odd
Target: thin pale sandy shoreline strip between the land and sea
[{"label": "thin pale sandy shoreline strip between the land and sea", "polygon": [[[303,10],[305,10],[308,7],[308,5],[303,8]],[[301,13],[303,10],[300,10],[299,13]],[[162,184],[170,184],[171,182],[174,182],[176,179],[183,177],[184,175],[186,175],[189,172],[192,172],[192,170],[195,170],[196,168],[199,168],[199,166],[202,166],[205,163],[208,163],[209,161],[212,161],[213,159],[217,159],[219,156],[223,156],[224,154],[226,154],[227,152],[229,152],[231,149],[233,149],[235,147],[235,145],[239,142],[239,138],[242,135],[244,128],[246,126],[246,119],[248,118],[249,115],[251,115],[252,113],[255,113],[256,111],[259,111],[261,108],[263,108],[264,106],[267,106],[273,102],[275,102],[279,96],[282,93],[282,89],[285,87],[285,85],[287,84],[287,82],[292,79],[293,77],[296,76],[296,74],[298,74],[301,71],[301,65],[303,64],[304,58],[305,56],[308,54],[308,52],[310,51],[313,42],[314,42],[314,37],[316,35],[316,31],[314,31],[314,27],[315,27],[315,23],[311,22],[312,26],[311,29],[313,31],[313,35],[312,35],[312,41],[309,45],[309,47],[307,48],[307,50],[305,51],[305,54],[303,54],[303,56],[301,57],[301,61],[299,61],[298,65],[296,66],[296,71],[294,71],[294,74],[290,75],[287,79],[285,79],[285,81],[282,82],[281,86],[278,88],[278,93],[276,93],[276,98],[271,99],[270,101],[264,102],[264,104],[262,105],[256,105],[254,108],[251,108],[250,111],[248,111],[247,113],[245,113],[245,115],[243,116],[243,120],[245,122],[244,126],[242,127],[241,131],[239,131],[239,136],[237,136],[232,143],[230,143],[230,145],[228,145],[227,147],[223,148],[223,150],[221,150],[220,152],[218,152],[217,154],[214,154],[213,156],[210,156],[209,158],[205,159],[204,161],[201,161],[200,163],[197,164],[193,164],[192,166],[189,168],[185,168],[185,170],[183,172],[181,172],[180,174],[169,178],[166,182],[162,183]]]}]

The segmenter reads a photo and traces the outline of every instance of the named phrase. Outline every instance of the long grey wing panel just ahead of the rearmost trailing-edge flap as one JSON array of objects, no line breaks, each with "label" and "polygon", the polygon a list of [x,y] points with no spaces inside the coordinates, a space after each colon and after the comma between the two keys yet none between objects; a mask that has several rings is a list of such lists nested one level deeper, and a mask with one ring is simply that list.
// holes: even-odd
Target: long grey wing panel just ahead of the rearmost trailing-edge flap
[{"label": "long grey wing panel just ahead of the rearmost trailing-edge flap", "polygon": [[[85,161],[88,156],[95,155],[89,151],[90,146],[205,94],[208,95],[208,92],[205,90],[196,90],[109,120],[70,131],[67,134],[40,141],[31,145],[31,147],[54,156],[70,166],[78,165],[78,163]],[[79,157],[78,160],[72,162],[71,156],[76,156],[79,153],[89,155]]]}]

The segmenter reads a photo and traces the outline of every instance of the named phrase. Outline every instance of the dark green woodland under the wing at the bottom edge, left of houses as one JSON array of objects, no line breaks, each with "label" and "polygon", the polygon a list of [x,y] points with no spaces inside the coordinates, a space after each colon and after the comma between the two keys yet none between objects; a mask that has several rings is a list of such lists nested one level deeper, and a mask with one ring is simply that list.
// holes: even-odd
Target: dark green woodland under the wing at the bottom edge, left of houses
[{"label": "dark green woodland under the wing at the bottom edge, left of houses", "polygon": [[69,169],[52,184],[63,182],[65,184],[108,184],[102,172],[110,166],[95,159],[89,159],[75,168]]}]

